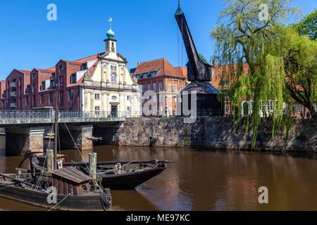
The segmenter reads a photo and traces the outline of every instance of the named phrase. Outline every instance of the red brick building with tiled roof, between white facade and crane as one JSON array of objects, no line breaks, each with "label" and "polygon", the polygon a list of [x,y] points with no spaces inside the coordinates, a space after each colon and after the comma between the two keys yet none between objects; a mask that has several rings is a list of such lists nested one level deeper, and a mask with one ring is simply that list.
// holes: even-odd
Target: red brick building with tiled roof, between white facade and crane
[{"label": "red brick building with tiled roof, between white facade and crane", "polygon": [[[168,115],[173,115],[177,106],[175,95],[179,94],[186,86],[187,72],[186,75],[182,75],[185,71],[187,70],[174,68],[173,65],[168,63],[168,60],[160,58],[138,63],[134,73],[138,80],[137,83],[142,87],[143,93],[145,91],[154,91],[158,94],[158,110],[165,110]],[[157,98],[154,99],[152,107],[156,108]]]}]

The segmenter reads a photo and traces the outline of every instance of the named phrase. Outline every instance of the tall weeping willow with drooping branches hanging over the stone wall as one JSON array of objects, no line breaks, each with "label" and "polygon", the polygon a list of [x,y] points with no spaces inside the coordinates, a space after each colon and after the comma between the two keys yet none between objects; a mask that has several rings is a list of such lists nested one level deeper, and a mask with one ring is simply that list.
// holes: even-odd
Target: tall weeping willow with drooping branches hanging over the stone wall
[{"label": "tall weeping willow with drooping branches hanging over the stone wall", "polygon": [[[273,117],[273,137],[283,116],[283,103],[288,95],[285,92],[285,61],[273,51],[272,40],[278,37],[277,27],[300,12],[297,7],[290,7],[290,2],[225,0],[225,9],[211,32],[216,41],[216,58],[225,65],[220,86],[225,95],[220,98],[230,101],[238,119],[242,100],[253,102],[253,147],[261,117]],[[271,101],[270,115],[266,110],[268,101]],[[248,125],[249,113],[245,118]]]}]

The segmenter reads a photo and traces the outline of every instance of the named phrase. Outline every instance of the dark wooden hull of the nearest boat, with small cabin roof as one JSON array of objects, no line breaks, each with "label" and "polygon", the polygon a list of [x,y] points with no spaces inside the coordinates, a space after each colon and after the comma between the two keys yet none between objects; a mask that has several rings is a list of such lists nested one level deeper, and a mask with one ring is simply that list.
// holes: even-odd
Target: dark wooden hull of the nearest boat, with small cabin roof
[{"label": "dark wooden hull of the nearest boat, with small cabin roof", "polygon": [[[41,207],[51,208],[54,203],[47,202],[48,193],[33,191],[17,186],[0,183],[0,196],[10,198],[23,203],[29,203]],[[67,195],[57,195],[57,203],[60,203]],[[100,200],[100,193],[89,193],[82,196],[68,196],[54,210],[67,211],[102,211],[103,207]]]}]

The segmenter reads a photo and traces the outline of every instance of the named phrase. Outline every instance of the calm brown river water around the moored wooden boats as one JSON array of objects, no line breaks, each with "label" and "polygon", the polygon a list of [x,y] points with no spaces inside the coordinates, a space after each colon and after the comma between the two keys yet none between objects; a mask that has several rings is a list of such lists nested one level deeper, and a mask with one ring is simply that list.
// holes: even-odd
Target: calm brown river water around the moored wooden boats
[{"label": "calm brown river water around the moored wooden boats", "polygon": [[[177,161],[135,191],[111,191],[117,210],[317,210],[315,155],[118,146],[94,147],[94,151],[99,161]],[[76,150],[62,153],[68,161],[82,161]],[[82,152],[85,160],[88,154]],[[20,159],[0,155],[0,171],[15,172]],[[265,205],[258,200],[261,186],[268,188]],[[0,209],[46,210],[6,198],[0,198]]]}]

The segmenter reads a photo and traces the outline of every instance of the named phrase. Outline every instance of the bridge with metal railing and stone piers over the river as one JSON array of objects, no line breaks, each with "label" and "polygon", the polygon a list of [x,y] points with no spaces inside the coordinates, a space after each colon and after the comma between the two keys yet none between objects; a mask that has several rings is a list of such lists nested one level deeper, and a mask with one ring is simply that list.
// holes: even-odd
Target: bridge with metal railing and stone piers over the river
[{"label": "bridge with metal railing and stone piers over the river", "polygon": [[[93,148],[89,140],[92,136],[103,138],[97,141],[99,144],[111,143],[114,133],[128,116],[107,112],[59,112],[58,146],[89,150]],[[53,127],[54,112],[0,112],[0,129],[6,135],[6,155],[21,155],[28,150],[43,152],[44,139],[48,134],[54,134]]]}]

